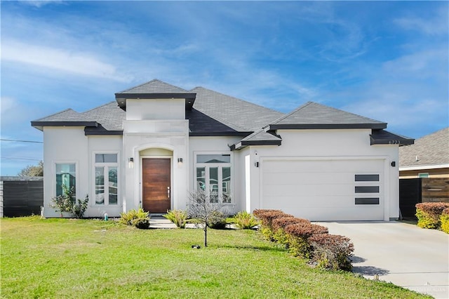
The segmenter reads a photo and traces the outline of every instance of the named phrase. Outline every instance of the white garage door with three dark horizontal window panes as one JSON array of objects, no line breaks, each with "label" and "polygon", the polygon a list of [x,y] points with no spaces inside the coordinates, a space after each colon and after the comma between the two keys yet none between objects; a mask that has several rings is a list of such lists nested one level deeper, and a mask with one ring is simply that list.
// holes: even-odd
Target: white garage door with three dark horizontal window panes
[{"label": "white garage door with three dark horizontal window panes", "polygon": [[261,208],[309,220],[383,220],[383,159],[261,159]]}]

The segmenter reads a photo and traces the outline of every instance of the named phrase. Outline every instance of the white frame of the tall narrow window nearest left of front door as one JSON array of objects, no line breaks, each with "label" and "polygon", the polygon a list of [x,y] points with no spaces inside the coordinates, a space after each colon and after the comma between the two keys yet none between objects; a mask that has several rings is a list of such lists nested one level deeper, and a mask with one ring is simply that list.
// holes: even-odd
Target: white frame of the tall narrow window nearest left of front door
[{"label": "white frame of the tall narrow window nearest left of front door", "polygon": [[[117,155],[117,161],[116,162],[96,162],[95,157],[97,154],[116,154]],[[92,154],[92,180],[93,180],[93,200],[92,205],[93,206],[119,206],[120,205],[120,193],[121,193],[121,187],[120,187],[120,153],[119,152],[109,152],[109,151],[97,151],[93,152]],[[97,183],[96,183],[96,168],[97,167],[104,167],[103,175],[105,177],[105,199],[103,204],[97,204],[96,201],[96,189],[97,189]],[[109,204],[109,167],[116,167],[117,168],[117,203],[116,204]]]}]

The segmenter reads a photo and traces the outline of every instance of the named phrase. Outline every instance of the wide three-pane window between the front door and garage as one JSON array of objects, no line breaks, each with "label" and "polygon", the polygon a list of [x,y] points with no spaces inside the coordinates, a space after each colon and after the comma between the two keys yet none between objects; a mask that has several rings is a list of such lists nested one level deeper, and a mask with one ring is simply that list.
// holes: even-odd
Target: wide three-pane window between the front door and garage
[{"label": "wide three-pane window between the front door and garage", "polygon": [[232,194],[231,155],[196,155],[196,190],[208,194],[211,203],[230,204]]}]

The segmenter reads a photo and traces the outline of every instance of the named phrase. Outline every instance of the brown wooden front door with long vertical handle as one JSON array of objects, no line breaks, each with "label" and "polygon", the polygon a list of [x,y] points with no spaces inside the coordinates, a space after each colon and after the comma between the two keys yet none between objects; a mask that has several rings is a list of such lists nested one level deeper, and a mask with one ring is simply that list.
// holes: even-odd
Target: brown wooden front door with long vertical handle
[{"label": "brown wooden front door with long vertical handle", "polygon": [[149,213],[167,213],[171,197],[170,159],[142,159],[142,207]]}]

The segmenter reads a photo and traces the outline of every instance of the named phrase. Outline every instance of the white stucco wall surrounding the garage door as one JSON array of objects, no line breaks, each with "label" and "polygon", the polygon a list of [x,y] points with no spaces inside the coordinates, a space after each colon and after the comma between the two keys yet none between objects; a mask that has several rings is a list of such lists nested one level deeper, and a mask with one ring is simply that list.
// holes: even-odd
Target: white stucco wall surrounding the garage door
[{"label": "white stucco wall surrounding the garage door", "polygon": [[[298,157],[301,159],[379,159],[384,161],[384,220],[398,218],[398,146],[370,145],[368,129],[360,130],[279,130],[281,146],[251,146],[250,153],[250,192],[247,192],[248,211],[260,208],[262,163],[274,157]],[[367,160],[367,161],[368,161]],[[255,162],[260,167],[255,167]],[[391,161],[396,162],[391,167]],[[248,174],[247,174],[248,176]]]}]

